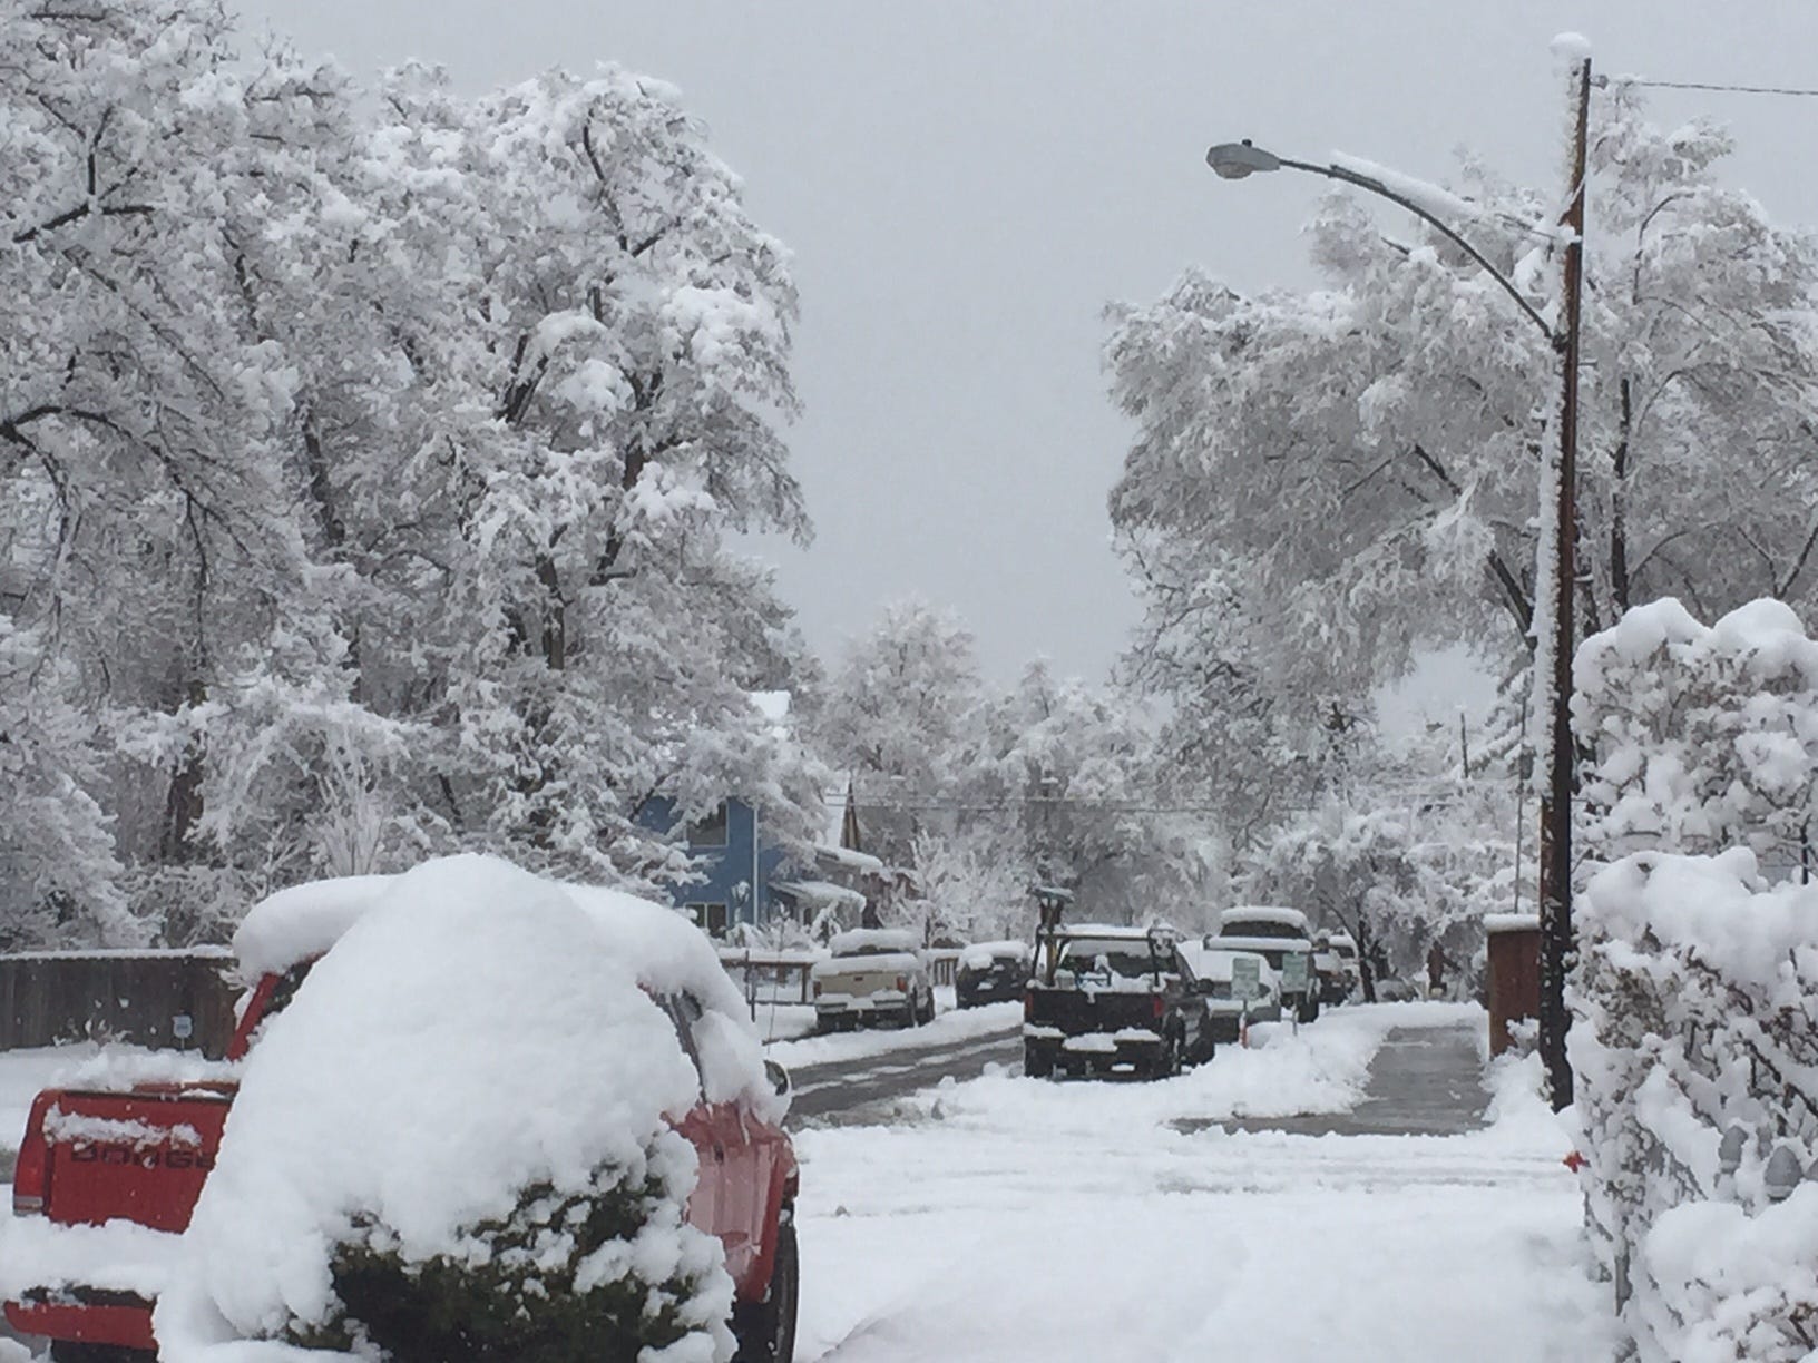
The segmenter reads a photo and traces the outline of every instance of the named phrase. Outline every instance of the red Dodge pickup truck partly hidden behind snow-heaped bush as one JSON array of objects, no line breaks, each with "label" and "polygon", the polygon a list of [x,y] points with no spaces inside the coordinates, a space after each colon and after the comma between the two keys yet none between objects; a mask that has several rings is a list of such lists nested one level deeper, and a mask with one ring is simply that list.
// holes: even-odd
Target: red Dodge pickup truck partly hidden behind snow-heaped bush
[{"label": "red Dodge pickup truck partly hidden behind snow-heaped bush", "polygon": [[[247,1054],[260,1025],[289,1001],[307,969],[309,961],[258,980],[244,1000],[229,1061]],[[700,1074],[694,1043],[700,1001],[687,992],[653,998]],[[787,1076],[780,1067],[767,1069],[778,1092],[785,1092]],[[47,1276],[58,1281],[5,1303],[15,1330],[47,1336],[58,1363],[151,1363],[156,1341],[144,1279],[156,1278],[160,1259],[175,1258],[175,1243],[160,1245],[156,1232],[175,1238],[189,1225],[235,1089],[231,1074],[224,1074],[129,1089],[49,1089],[36,1096],[13,1174],[15,1216],[45,1218],[60,1227],[131,1221],[145,1230],[127,1227],[129,1241],[153,1267],[135,1276],[131,1267],[120,1267],[116,1254],[109,1274],[100,1274],[109,1281],[80,1285],[47,1265]],[[789,1136],[742,1103],[696,1101],[674,1125],[700,1161],[687,1219],[725,1247],[738,1358],[789,1363],[798,1288],[793,1225],[798,1170]]]}]

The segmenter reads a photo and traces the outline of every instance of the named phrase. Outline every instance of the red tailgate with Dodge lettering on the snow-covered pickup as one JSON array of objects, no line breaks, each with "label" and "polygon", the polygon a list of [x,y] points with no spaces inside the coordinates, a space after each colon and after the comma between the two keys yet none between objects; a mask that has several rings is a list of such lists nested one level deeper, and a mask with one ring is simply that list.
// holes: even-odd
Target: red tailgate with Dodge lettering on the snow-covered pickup
[{"label": "red tailgate with Dodge lettering on the snow-covered pickup", "polygon": [[44,1212],[64,1225],[127,1218],[153,1230],[189,1227],[215,1167],[231,1089],[47,1094]]}]

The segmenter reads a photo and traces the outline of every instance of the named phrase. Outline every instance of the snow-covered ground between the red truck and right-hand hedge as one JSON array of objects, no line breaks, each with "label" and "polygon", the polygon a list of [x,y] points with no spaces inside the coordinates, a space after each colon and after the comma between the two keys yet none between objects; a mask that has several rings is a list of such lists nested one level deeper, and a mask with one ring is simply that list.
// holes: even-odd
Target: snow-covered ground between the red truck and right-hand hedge
[{"label": "snow-covered ground between the red truck and right-hand hedge", "polygon": [[1531,1065],[1494,1070],[1496,1121],[1469,1136],[1167,1125],[1349,1105],[1391,1027],[1460,1020],[1482,1012],[1344,1009],[1164,1083],[996,1074],[924,1096],[907,1125],[798,1134],[796,1358],[1605,1358],[1567,1141]]}]

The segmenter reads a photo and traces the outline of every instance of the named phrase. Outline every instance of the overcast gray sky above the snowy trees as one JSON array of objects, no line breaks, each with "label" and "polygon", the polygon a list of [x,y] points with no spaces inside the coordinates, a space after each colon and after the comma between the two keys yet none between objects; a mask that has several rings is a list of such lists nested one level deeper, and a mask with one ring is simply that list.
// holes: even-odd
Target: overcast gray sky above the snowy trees
[{"label": "overcast gray sky above the snowy trees", "polygon": [[[1611,73],[1818,85],[1809,0],[240,11],[360,75],[418,56],[478,91],[611,60],[680,85],[796,258],[793,447],[818,538],[774,551],[785,596],[824,654],[889,600],[947,605],[1002,680],[1036,654],[1100,676],[1136,618],[1105,522],[1127,440],[1098,365],[1105,303],[1149,300],[1189,262],[1242,289],[1311,282],[1300,225],[1324,182],[1220,182],[1209,142],[1342,149],[1423,178],[1469,145],[1551,184],[1560,29]],[[1658,91],[1654,107],[1729,122],[1734,184],[1818,222],[1818,100]]]}]

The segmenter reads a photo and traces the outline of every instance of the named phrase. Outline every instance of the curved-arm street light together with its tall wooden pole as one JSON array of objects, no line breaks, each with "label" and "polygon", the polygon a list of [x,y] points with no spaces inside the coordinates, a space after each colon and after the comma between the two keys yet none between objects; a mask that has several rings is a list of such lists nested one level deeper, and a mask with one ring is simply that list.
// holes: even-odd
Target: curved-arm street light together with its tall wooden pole
[{"label": "curved-arm street light together with its tall wooden pole", "polygon": [[[1542,523],[1547,523],[1545,492],[1554,492],[1553,527],[1553,634],[1534,631],[1534,682],[1547,682],[1551,687],[1549,743],[1547,743],[1547,787],[1542,796],[1542,838],[1540,838],[1540,1054],[1547,1067],[1547,1089],[1554,1109],[1573,1101],[1573,1070],[1565,1058],[1565,965],[1573,949],[1573,591],[1576,585],[1574,567],[1574,531],[1578,511],[1574,505],[1574,483],[1578,465],[1578,293],[1583,276],[1583,182],[1585,182],[1585,124],[1591,105],[1591,62],[1578,58],[1574,65],[1576,95],[1576,138],[1573,144],[1573,164],[1569,167],[1567,207],[1562,225],[1569,231],[1565,238],[1565,276],[1560,307],[1560,325],[1549,323],[1502,271],[1489,264],[1471,242],[1453,227],[1429,213],[1422,204],[1407,194],[1400,194],[1382,180],[1362,174],[1345,165],[1320,165],[1316,162],[1298,162],[1276,156],[1271,151],[1244,142],[1220,142],[1207,149],[1205,164],[1224,180],[1244,180],[1251,174],[1289,169],[1320,174],[1327,180],[1340,180],[1358,189],[1367,189],[1380,198],[1398,204],[1425,222],[1445,240],[1463,251],[1485,274],[1502,285],[1502,291],[1514,300],[1522,314],[1540,327],[1547,345],[1560,356],[1560,411],[1558,411],[1558,487],[1542,491]],[[1538,574],[1536,574],[1538,576]],[[1543,592],[1536,583],[1536,605]]]}]

